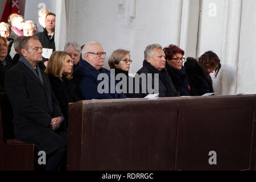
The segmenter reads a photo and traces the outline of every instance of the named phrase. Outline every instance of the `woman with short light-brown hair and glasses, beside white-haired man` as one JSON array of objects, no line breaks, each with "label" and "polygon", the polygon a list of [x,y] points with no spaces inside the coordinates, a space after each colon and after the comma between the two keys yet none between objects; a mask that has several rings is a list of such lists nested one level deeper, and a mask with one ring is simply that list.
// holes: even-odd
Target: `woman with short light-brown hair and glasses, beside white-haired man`
[{"label": "woman with short light-brown hair and glasses, beside white-haired man", "polygon": [[[134,88],[134,78],[130,77],[128,75],[129,70],[130,70],[130,65],[131,65],[131,57],[130,57],[130,51],[124,50],[124,49],[117,49],[114,52],[112,52],[112,54],[109,57],[109,67],[110,69],[114,69],[115,71],[115,78],[117,78],[117,75],[119,73],[123,73],[125,74],[126,78],[127,78],[127,85],[126,85],[126,89],[123,88],[121,86],[121,89],[123,90],[123,93],[126,94],[127,98],[140,98],[139,94],[135,94],[134,89],[133,89],[133,93],[129,93],[129,80],[130,82],[133,83],[133,88]],[[115,79],[115,81],[118,82],[121,81]]]}]

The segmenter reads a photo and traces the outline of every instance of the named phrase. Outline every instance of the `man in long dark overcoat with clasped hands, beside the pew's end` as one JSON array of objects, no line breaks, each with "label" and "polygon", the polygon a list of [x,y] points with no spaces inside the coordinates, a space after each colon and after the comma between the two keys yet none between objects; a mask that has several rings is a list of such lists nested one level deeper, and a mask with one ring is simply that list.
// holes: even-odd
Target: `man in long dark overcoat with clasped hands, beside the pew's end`
[{"label": "man in long dark overcoat with clasped hands, beside the pew's end", "polygon": [[19,50],[19,63],[5,77],[15,137],[46,152],[46,170],[56,170],[65,160],[67,131],[61,125],[63,114],[49,79],[38,67],[42,45],[38,38],[28,36],[20,41]]}]

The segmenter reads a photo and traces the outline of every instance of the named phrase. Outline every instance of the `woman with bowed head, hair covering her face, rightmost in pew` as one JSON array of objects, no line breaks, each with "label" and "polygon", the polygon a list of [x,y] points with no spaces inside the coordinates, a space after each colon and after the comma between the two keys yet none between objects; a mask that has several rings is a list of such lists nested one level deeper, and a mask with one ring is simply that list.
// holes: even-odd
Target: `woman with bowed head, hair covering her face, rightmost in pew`
[{"label": "woman with bowed head, hair covering her face, rightmost in pew", "polygon": [[205,93],[214,92],[210,73],[214,72],[216,78],[221,68],[220,59],[216,53],[207,51],[200,56],[199,61],[188,57],[184,67],[191,86],[191,96],[202,96]]}]

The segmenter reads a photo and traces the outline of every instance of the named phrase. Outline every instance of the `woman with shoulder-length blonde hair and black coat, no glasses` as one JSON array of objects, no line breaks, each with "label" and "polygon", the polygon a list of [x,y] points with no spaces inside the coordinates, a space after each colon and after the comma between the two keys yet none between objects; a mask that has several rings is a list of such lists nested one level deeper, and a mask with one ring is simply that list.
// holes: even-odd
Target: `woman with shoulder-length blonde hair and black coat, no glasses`
[{"label": "woman with shoulder-length blonde hair and black coat, no glasses", "polygon": [[46,68],[52,85],[53,93],[60,102],[60,109],[65,117],[65,126],[68,127],[68,104],[81,100],[79,89],[71,80],[73,64],[71,55],[65,51],[55,51],[49,57]]}]

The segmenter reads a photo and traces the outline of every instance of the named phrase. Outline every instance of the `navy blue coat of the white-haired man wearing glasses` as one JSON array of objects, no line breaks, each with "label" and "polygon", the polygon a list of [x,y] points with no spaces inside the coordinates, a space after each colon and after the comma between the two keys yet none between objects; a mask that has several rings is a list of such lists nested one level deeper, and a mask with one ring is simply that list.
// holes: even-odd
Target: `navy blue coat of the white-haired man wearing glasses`
[{"label": "navy blue coat of the white-haired man wearing glasses", "polygon": [[[103,80],[103,78],[102,80],[97,80],[100,73],[105,73],[108,77],[108,80],[106,80],[108,81],[109,85],[108,93],[99,93],[97,90],[98,84],[100,84]],[[74,70],[73,81],[79,88],[83,100],[126,98],[125,94],[118,94],[115,91],[115,88],[112,88],[114,90],[114,93],[111,92],[112,90],[110,90],[110,72],[108,71],[108,69],[101,68],[97,70],[85,60],[80,60],[79,65]]]}]

